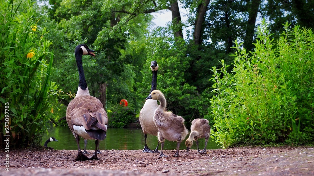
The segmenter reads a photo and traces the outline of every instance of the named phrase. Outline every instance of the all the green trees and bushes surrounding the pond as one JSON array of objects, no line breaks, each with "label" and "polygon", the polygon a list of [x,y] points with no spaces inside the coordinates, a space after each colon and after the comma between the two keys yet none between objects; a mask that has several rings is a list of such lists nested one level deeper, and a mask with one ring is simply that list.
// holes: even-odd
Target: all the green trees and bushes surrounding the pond
[{"label": "all the green trees and bushes surrounding the pond", "polygon": [[[167,108],[187,127],[208,119],[224,147],[313,142],[312,3],[1,0],[0,106],[4,124],[10,103],[10,145],[38,145],[48,120],[64,125],[82,43],[97,51],[83,67],[109,127],[137,120],[156,60]],[[152,14],[163,11],[171,21],[154,27]]]}]

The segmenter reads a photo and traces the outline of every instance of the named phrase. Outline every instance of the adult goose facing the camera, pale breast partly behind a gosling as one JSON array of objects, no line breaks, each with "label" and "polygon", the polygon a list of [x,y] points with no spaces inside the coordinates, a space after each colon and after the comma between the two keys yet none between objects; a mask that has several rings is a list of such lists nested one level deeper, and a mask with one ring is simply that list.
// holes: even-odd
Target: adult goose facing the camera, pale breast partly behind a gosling
[{"label": "adult goose facing the camera, pale breast partly behind a gosling", "polygon": [[[153,72],[153,77],[152,77],[152,87],[149,94],[152,91],[156,90],[158,68],[159,66],[156,61],[150,62],[150,69]],[[139,123],[141,124],[142,130],[144,133],[144,138],[145,138],[145,146],[144,146],[143,152],[159,153],[158,151],[159,142],[155,150],[151,150],[150,148],[148,148],[146,144],[147,133],[154,136],[157,136],[157,133],[158,133],[158,128],[155,126],[155,123],[153,120],[154,112],[157,109],[157,107],[158,107],[157,100],[146,100],[143,108],[139,112]]]}]

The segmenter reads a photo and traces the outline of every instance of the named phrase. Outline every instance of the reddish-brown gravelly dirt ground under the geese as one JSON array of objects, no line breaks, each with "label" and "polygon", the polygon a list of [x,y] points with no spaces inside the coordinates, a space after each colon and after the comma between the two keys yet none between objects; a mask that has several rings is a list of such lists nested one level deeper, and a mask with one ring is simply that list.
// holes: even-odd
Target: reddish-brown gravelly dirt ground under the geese
[{"label": "reddish-brown gravelly dirt ground under the geese", "polygon": [[[89,151],[92,153],[93,151]],[[10,150],[9,172],[0,151],[0,175],[314,175],[314,148],[240,147],[207,150],[165,150],[168,157],[141,150],[102,150],[99,161],[75,161],[76,150]],[[87,156],[91,156],[89,154]]]}]

